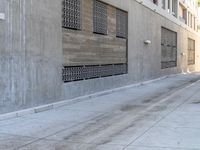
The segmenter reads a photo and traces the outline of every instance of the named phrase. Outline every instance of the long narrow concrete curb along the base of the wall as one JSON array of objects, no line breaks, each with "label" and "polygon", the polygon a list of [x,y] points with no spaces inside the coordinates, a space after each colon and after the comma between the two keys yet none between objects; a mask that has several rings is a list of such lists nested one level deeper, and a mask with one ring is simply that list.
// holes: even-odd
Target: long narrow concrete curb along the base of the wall
[{"label": "long narrow concrete curb along the base of the wall", "polygon": [[11,113],[6,113],[6,114],[2,114],[0,115],[0,121],[2,120],[9,120],[11,118],[17,118],[17,117],[22,117],[22,116],[26,116],[29,114],[34,114],[34,113],[40,113],[40,112],[44,112],[44,111],[48,111],[48,110],[52,110],[58,107],[62,107],[62,106],[66,106],[66,105],[70,105],[73,103],[78,103],[84,100],[89,100],[95,97],[99,97],[99,96],[103,96],[103,95],[108,95],[120,90],[125,90],[125,89],[129,89],[129,88],[133,88],[133,87],[137,87],[137,86],[141,86],[141,85],[146,85],[146,84],[150,84],[152,82],[156,82],[156,81],[160,81],[169,77],[174,77],[180,74],[172,74],[172,75],[167,75],[167,76],[163,76],[157,79],[153,79],[153,80],[148,80],[148,81],[144,81],[144,82],[140,82],[140,83],[135,83],[135,84],[131,84],[131,85],[127,85],[127,86],[123,86],[123,87],[119,87],[119,88],[115,88],[115,89],[111,89],[111,90],[107,90],[107,91],[102,91],[102,92],[98,92],[98,93],[94,93],[94,94],[90,94],[90,95],[86,95],[86,96],[81,96],[81,97],[77,97],[74,99],[69,99],[69,100],[63,100],[60,102],[56,102],[56,103],[51,103],[51,104],[47,104],[47,105],[42,105],[42,106],[38,106],[38,107],[33,107],[33,108],[29,108],[29,109],[24,109],[24,110],[20,110],[20,111],[16,111],[16,112],[11,112]]}]

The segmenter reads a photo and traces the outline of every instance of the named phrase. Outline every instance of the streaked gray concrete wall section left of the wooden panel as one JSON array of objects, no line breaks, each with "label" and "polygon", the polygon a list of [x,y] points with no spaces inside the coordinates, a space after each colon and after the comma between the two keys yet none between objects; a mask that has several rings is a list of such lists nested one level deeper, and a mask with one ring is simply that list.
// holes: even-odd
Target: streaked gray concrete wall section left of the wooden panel
[{"label": "streaked gray concrete wall section left of the wooden panel", "polygon": [[0,113],[61,100],[61,3],[1,0],[0,12]]}]

